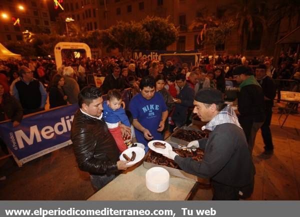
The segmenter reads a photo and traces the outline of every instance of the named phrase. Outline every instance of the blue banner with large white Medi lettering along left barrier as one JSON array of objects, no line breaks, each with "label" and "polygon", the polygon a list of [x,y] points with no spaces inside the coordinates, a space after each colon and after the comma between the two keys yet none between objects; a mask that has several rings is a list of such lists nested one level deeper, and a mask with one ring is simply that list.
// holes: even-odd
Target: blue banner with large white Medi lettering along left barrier
[{"label": "blue banner with large white Medi lettering along left barrier", "polygon": [[20,164],[71,144],[70,129],[77,104],[24,117],[17,127],[0,124],[0,136]]}]

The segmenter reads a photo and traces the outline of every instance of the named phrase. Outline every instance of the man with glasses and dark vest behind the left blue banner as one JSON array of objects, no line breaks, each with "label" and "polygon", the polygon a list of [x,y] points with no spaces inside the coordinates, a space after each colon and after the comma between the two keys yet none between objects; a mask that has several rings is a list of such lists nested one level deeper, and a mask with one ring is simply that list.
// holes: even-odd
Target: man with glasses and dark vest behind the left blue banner
[{"label": "man with glasses and dark vest behind the left blue banner", "polygon": [[22,65],[19,68],[20,80],[12,86],[12,95],[18,99],[24,114],[44,110],[47,92],[42,83],[33,78],[33,71]]}]

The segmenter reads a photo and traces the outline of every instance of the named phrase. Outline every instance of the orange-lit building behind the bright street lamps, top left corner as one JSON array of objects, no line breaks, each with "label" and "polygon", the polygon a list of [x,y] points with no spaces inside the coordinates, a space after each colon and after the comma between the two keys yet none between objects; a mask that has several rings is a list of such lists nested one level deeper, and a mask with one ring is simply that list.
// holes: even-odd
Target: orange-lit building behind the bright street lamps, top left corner
[{"label": "orange-lit building behind the bright street lamps, top left corner", "polygon": [[[0,42],[21,41],[28,36],[25,33],[28,31],[51,32],[45,0],[1,0],[0,13]],[[13,25],[17,19],[19,24]]]}]

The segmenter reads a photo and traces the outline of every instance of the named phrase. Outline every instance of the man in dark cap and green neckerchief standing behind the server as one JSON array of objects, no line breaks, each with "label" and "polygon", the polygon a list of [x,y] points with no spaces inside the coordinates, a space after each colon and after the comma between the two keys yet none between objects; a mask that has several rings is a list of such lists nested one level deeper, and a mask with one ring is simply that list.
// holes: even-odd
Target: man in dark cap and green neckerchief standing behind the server
[{"label": "man in dark cap and green neckerchief standing behind the server", "polygon": [[240,83],[237,95],[238,121],[246,135],[252,155],[256,132],[265,119],[263,91],[249,67],[236,66],[233,69],[233,78]]}]

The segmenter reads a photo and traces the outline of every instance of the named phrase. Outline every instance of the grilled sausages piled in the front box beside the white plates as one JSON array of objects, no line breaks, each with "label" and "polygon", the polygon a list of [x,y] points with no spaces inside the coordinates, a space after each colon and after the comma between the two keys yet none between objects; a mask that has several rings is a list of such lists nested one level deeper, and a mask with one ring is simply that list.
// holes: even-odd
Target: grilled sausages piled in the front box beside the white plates
[{"label": "grilled sausages piled in the front box beside the white plates", "polygon": [[[173,151],[175,151],[179,156],[191,157],[197,161],[201,161],[203,158],[203,154],[204,154],[203,150],[201,150],[200,148],[197,148],[195,151],[188,151],[188,150],[178,149],[178,148],[173,147]],[[154,164],[158,164],[158,165],[168,166],[171,168],[179,168],[180,169],[180,167],[177,165],[177,163],[174,162],[174,160],[169,159],[169,158],[163,156],[162,154],[157,153],[152,150],[148,151],[148,156],[145,161],[154,163]]]}]

